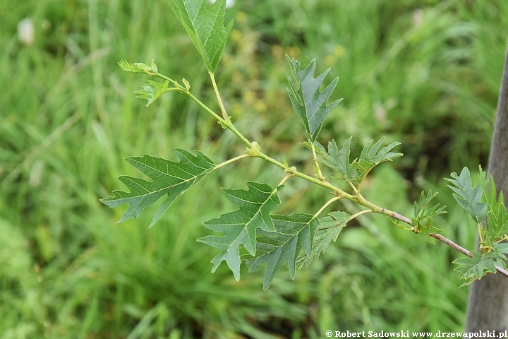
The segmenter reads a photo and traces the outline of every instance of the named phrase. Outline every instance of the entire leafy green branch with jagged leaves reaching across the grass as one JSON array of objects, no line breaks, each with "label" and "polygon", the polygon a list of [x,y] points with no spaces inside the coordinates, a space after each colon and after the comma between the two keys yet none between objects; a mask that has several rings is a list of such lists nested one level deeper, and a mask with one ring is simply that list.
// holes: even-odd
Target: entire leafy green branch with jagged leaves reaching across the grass
[{"label": "entire leafy green branch with jagged leaves reaching across the grass", "polygon": [[[321,253],[326,251],[332,240],[334,242],[337,240],[337,237],[342,228],[346,226],[347,222],[363,213],[385,214],[395,220],[406,222],[411,225],[411,228],[403,227],[397,221],[394,223],[397,227],[421,234],[425,236],[428,242],[434,243],[432,239],[433,235],[442,232],[442,230],[433,225],[433,217],[442,215],[446,213],[446,211],[444,210],[445,206],[440,208],[439,204],[427,208],[430,201],[435,197],[432,191],[429,191],[427,196],[422,192],[420,200],[414,204],[414,217],[411,219],[388,210],[387,208],[376,206],[361,195],[362,184],[375,166],[402,156],[402,153],[392,152],[394,147],[400,145],[399,142],[393,142],[382,147],[386,137],[380,138],[375,143],[370,141],[363,146],[363,150],[359,157],[352,162],[350,162],[349,159],[351,153],[351,138],[346,139],[341,150],[339,150],[337,144],[333,140],[329,141],[328,150],[325,150],[325,148],[317,142],[316,139],[322,129],[325,118],[329,115],[329,112],[338,105],[340,100],[336,100],[330,105],[327,105],[327,101],[337,85],[338,78],[335,78],[324,90],[320,91],[320,86],[330,69],[327,69],[327,71],[320,76],[314,78],[316,68],[315,59],[310,62],[306,69],[301,70],[300,62],[296,59],[290,59],[289,56],[286,55],[286,59],[289,61],[289,66],[291,68],[291,76],[286,73],[286,78],[289,82],[289,99],[291,100],[296,114],[303,122],[308,135],[308,142],[304,143],[304,145],[313,151],[313,161],[315,162],[313,165],[315,170],[313,177],[298,172],[296,167],[290,167],[285,160],[284,162],[279,162],[266,155],[262,152],[257,142],[248,141],[246,136],[243,136],[243,134],[236,129],[231,121],[231,117],[226,113],[213,75],[224,50],[224,44],[232,25],[232,23],[230,23],[224,28],[224,6],[224,1],[217,1],[217,4],[214,4],[210,11],[207,11],[205,0],[171,0],[171,7],[176,13],[176,16],[183,24],[191,40],[193,40],[195,47],[205,60],[212,80],[215,96],[221,107],[222,117],[219,117],[212,109],[191,94],[190,85],[187,81],[183,80],[185,88],[176,83],[176,81],[173,81],[175,85],[174,90],[191,97],[198,105],[211,114],[212,117],[217,119],[217,122],[219,122],[224,129],[232,131],[240,141],[247,145],[246,154],[227,160],[217,165],[217,167],[210,161],[208,162],[208,167],[199,167],[197,171],[195,170],[196,164],[193,162],[190,163],[191,171],[188,171],[186,168],[187,164],[176,166],[174,165],[175,162],[158,158],[157,161],[166,165],[166,167],[163,169],[162,167],[164,166],[158,166],[161,168],[157,168],[157,170],[164,170],[166,177],[169,176],[173,179],[179,178],[179,180],[176,180],[176,182],[172,180],[168,184],[164,177],[162,183],[160,183],[158,174],[154,176],[153,166],[149,167],[149,170],[138,167],[143,170],[145,174],[154,177],[154,181],[147,182],[143,179],[120,177],[121,181],[131,189],[131,193],[127,194],[126,192],[115,191],[115,196],[113,198],[104,199],[104,203],[108,203],[109,206],[115,207],[121,203],[129,202],[130,207],[120,220],[123,221],[131,216],[137,218],[143,208],[152,205],[160,196],[167,194],[168,198],[162,203],[159,210],[157,210],[155,218],[152,221],[153,225],[167,208],[169,208],[177,196],[193,186],[193,184],[197,182],[196,179],[198,179],[198,177],[202,177],[214,168],[222,167],[229,162],[234,162],[243,157],[260,157],[270,162],[272,165],[284,169],[286,177],[282,179],[277,189],[274,190],[272,190],[268,184],[259,184],[257,182],[247,182],[248,190],[223,189],[226,198],[238,206],[239,209],[231,213],[223,214],[219,218],[203,222],[205,227],[216,232],[222,232],[222,234],[224,234],[223,236],[209,235],[198,239],[199,242],[209,244],[221,251],[219,255],[212,259],[212,263],[214,263],[212,272],[217,270],[222,261],[226,261],[227,265],[234,273],[236,280],[239,280],[241,246],[248,251],[248,255],[243,258],[251,272],[263,263],[267,263],[265,280],[263,283],[265,290],[270,286],[270,283],[272,283],[274,279],[274,275],[285,261],[288,261],[291,278],[294,278],[294,268],[297,261],[298,267],[301,267],[303,264],[308,265],[313,258],[318,258]],[[130,64],[127,61],[121,61],[119,64],[121,68],[126,71],[133,73],[144,72],[149,76],[157,76],[165,80],[162,84],[149,81],[141,90],[135,92],[138,94],[138,97],[148,101],[147,105],[150,105],[159,95],[168,91],[167,86],[169,81],[172,80],[160,74],[157,65],[155,65],[153,61],[152,66]],[[318,165],[317,155],[321,157],[319,159],[320,162],[339,172],[341,174],[341,179],[349,182],[351,189],[353,189],[353,194],[348,194],[346,191],[327,182]],[[146,157],[145,155],[145,158]],[[133,159],[135,158],[128,158],[128,160]],[[173,166],[170,167],[167,164]],[[179,162],[179,164],[182,164],[182,161]],[[180,172],[191,172],[191,176],[181,177]],[[473,216],[480,230],[479,222],[487,215],[488,207],[487,203],[480,201],[483,197],[480,185],[475,187],[471,186],[471,175],[466,168],[461,172],[460,176],[457,176],[456,173],[452,173],[451,176],[452,179],[447,180],[453,185],[449,187],[454,191],[454,198],[456,198],[459,204]],[[317,215],[310,216],[305,214],[291,214],[289,216],[277,215],[272,217],[270,216],[270,212],[281,203],[277,192],[283,188],[282,183],[290,177],[306,179],[309,182],[325,187],[330,193],[334,194],[335,198],[332,198],[326,203],[317,215],[319,215],[329,203],[339,198],[345,198],[353,203],[358,203],[367,209],[361,210],[354,215],[342,211],[335,211],[329,213],[327,217],[317,220],[315,220]],[[483,182],[483,186],[486,187],[487,184]],[[169,192],[167,190],[169,190]],[[484,195],[486,195],[486,193]],[[488,196],[488,198],[490,200],[489,213],[495,224],[490,225],[488,232],[490,232],[489,235],[498,236],[503,234],[507,229],[508,213],[506,208],[504,208],[502,197],[499,203],[495,201],[495,198],[493,198],[492,201],[491,196]],[[504,209],[500,206],[503,206]],[[276,222],[272,221],[272,218],[276,220]],[[480,232],[480,239],[482,239],[481,236],[482,234]],[[488,268],[485,270],[485,273],[492,271],[492,267],[495,268],[492,258],[499,259],[504,257],[504,254],[498,254],[497,252],[494,252],[495,254],[490,254],[491,250],[495,251],[495,247],[493,246],[494,241],[495,240],[490,239],[488,242],[490,246],[483,249],[482,258],[473,256],[473,258],[470,258],[470,261],[467,261],[468,259],[459,261],[461,267],[464,267],[464,270],[461,270],[461,277],[466,276],[466,272],[473,272],[476,277],[478,277],[478,272],[480,271],[483,275],[484,267]],[[447,242],[447,244],[451,244],[451,242]],[[298,258],[302,249],[304,253]]]}]

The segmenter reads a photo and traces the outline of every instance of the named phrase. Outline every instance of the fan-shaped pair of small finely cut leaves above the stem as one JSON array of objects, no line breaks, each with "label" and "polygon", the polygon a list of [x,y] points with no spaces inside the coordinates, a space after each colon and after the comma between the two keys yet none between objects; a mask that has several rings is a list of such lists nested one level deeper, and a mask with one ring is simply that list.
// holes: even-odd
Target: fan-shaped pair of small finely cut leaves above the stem
[{"label": "fan-shaped pair of small finely cut leaves above the stem", "polygon": [[[383,137],[374,145],[372,144],[373,141],[370,141],[370,143],[363,146],[360,157],[353,160],[353,162],[349,162],[351,138],[349,137],[344,141],[340,150],[334,140],[329,141],[328,151],[319,142],[314,142],[316,153],[321,156],[319,161],[342,174],[343,179],[348,182],[360,182],[373,167],[403,155],[402,153],[390,152],[395,146],[400,145],[398,142],[390,143],[381,148],[386,139]],[[303,145],[307,148],[311,147],[310,142],[303,143]]]}]

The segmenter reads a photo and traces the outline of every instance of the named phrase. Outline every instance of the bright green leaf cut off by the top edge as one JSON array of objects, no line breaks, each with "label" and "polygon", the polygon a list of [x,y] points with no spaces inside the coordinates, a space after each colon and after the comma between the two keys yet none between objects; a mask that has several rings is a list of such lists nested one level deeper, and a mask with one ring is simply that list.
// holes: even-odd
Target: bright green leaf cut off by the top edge
[{"label": "bright green leaf cut off by the top edge", "polygon": [[169,0],[176,18],[198,49],[208,71],[214,73],[219,64],[233,20],[224,27],[226,0],[217,0],[207,10],[207,0]]}]

